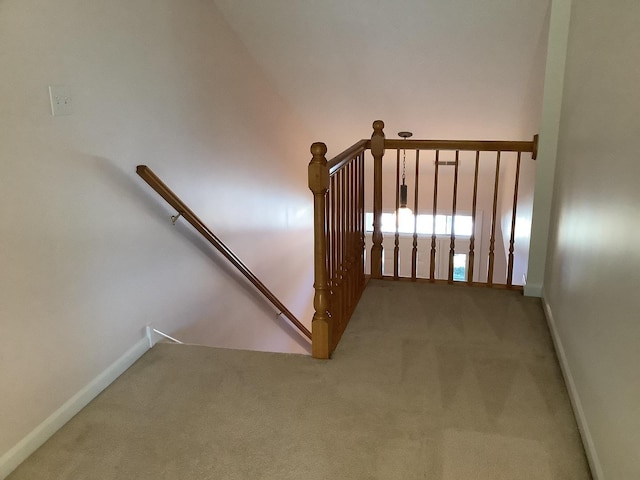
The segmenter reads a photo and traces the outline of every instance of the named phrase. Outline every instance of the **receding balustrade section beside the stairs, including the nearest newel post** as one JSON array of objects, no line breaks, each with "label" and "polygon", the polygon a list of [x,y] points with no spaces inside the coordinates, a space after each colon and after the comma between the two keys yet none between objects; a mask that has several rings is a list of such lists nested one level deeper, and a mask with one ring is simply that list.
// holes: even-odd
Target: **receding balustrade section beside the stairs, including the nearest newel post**
[{"label": "receding balustrade section beside the stairs, including the nearest newel post", "polygon": [[365,287],[363,140],[330,162],[323,143],[311,146],[314,196],[312,355],[329,358]]}]

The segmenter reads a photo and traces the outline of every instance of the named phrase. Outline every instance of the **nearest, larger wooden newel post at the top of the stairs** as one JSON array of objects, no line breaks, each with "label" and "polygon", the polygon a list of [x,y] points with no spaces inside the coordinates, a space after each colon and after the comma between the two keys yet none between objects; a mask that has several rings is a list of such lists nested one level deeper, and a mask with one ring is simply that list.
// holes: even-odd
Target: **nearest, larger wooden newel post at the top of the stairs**
[{"label": "nearest, larger wooden newel post at the top of the stairs", "polygon": [[311,323],[311,355],[314,358],[329,358],[331,355],[331,315],[329,314],[329,280],[327,272],[327,221],[326,202],[329,191],[329,168],[327,146],[324,143],[311,145],[313,158],[309,163],[309,189],[313,192],[314,223],[314,283],[313,321]]}]

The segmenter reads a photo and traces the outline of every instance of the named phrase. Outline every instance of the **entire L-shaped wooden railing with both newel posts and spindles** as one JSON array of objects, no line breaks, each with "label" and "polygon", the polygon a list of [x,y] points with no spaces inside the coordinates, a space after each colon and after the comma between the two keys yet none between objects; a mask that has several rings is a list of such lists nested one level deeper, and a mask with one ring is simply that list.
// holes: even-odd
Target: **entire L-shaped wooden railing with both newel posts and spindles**
[{"label": "entire L-shaped wooden railing with both newel posts and spindles", "polygon": [[[312,332],[313,356],[316,358],[329,358],[335,349],[342,333],[344,332],[351,314],[364,290],[365,273],[365,238],[368,237],[365,228],[365,170],[372,168],[373,185],[367,187],[373,192],[371,201],[372,208],[372,231],[370,235],[370,275],[371,278],[392,278],[401,277],[411,280],[424,279],[436,282],[445,281],[454,283],[459,281],[454,276],[454,260],[457,251],[460,250],[459,235],[456,235],[456,219],[460,211],[459,188],[462,183],[469,185],[470,192],[465,192],[470,196],[470,223],[471,233],[465,237],[466,267],[464,269],[464,280],[461,283],[474,285],[496,286],[499,282],[494,281],[495,270],[495,250],[496,250],[496,229],[498,227],[498,205],[500,203],[499,192],[504,195],[505,187],[501,186],[501,162],[515,162],[515,180],[512,193],[512,207],[510,215],[510,232],[508,242],[506,281],[504,286],[512,288],[514,269],[514,243],[516,232],[516,212],[518,204],[518,188],[520,180],[520,167],[522,154],[530,153],[531,158],[536,158],[537,136],[530,142],[513,141],[455,141],[455,140],[387,140],[384,134],[384,123],[377,120],[373,123],[373,135],[371,140],[361,140],[351,148],[327,162],[325,155],[327,147],[323,143],[314,143],[311,147],[313,155],[309,164],[309,188],[314,195],[314,309]],[[373,165],[365,165],[365,151],[371,150]],[[394,202],[383,203],[383,157],[385,150],[394,149],[396,155],[396,178],[395,178],[395,199]],[[412,207],[412,231],[411,235],[411,267],[410,275],[404,275],[400,269],[401,256],[401,232],[400,217],[400,152],[414,152],[413,157],[413,202]],[[426,152],[420,156],[421,152]],[[450,158],[444,160],[444,157]],[[462,157],[465,157],[464,159]],[[470,158],[467,158],[469,157]],[[508,158],[507,158],[508,156]],[[424,160],[430,160],[424,162]],[[469,162],[470,160],[470,162]],[[421,164],[421,161],[423,162]],[[421,165],[433,162],[432,171],[423,172]],[[467,165],[471,163],[471,165]],[[471,170],[473,173],[465,175],[472,180],[460,182],[461,170]],[[488,249],[486,250],[486,278],[484,273],[482,279],[480,272],[475,267],[478,260],[478,234],[476,226],[480,224],[478,219],[479,191],[481,186],[486,186],[480,182],[479,172],[487,177],[487,168],[493,168],[490,172],[492,191],[490,200],[490,228],[488,239]],[[443,166],[452,166],[452,191],[447,200],[450,202],[442,208],[442,192],[444,185],[441,180],[443,175],[440,169]],[[488,165],[488,167],[486,167]],[[403,160],[403,172],[406,165]],[[387,171],[389,169],[386,169]],[[367,170],[368,172],[369,170]],[[428,173],[432,179],[430,195],[421,197],[420,185],[428,180]],[[466,177],[465,177],[466,178]],[[421,183],[422,182],[422,183]],[[486,183],[486,182],[484,182]],[[369,190],[368,190],[369,191]],[[484,194],[483,198],[487,195]],[[387,196],[388,197],[388,196]],[[440,200],[440,204],[439,204]],[[487,203],[487,202],[485,202]],[[395,206],[395,232],[393,246],[393,270],[391,274],[386,274],[384,269],[384,232],[383,232],[383,206]],[[450,228],[446,233],[448,239],[448,264],[447,275],[439,278],[436,272],[437,258],[442,256],[442,247],[438,250],[438,244],[443,244],[443,233],[438,231],[437,219],[442,216],[442,211],[446,211],[450,220]],[[419,232],[419,216],[430,216],[431,231],[429,234]],[[420,253],[419,246],[421,240],[428,241],[428,251]],[[484,250],[484,249],[483,249]],[[419,271],[418,259],[428,258],[428,270]],[[423,266],[427,262],[422,262]],[[484,268],[483,268],[484,270]]]}]

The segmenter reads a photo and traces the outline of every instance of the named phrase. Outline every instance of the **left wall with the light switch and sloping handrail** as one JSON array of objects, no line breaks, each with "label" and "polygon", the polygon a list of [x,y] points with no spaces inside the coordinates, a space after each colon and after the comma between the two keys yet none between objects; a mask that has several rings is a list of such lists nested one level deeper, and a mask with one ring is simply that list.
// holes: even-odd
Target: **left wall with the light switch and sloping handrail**
[{"label": "left wall with the light switch and sloping handrail", "polygon": [[[213,2],[5,0],[0,71],[0,457],[149,322],[307,351],[135,174],[150,165],[310,324],[312,139]],[[51,116],[50,84],[73,115]]]}]

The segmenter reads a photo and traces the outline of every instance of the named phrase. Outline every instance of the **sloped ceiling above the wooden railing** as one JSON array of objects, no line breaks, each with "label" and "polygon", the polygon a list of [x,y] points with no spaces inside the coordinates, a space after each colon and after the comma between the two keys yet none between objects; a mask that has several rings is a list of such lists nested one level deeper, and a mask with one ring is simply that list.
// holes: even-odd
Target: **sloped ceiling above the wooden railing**
[{"label": "sloped ceiling above the wooden railing", "polygon": [[550,0],[215,0],[330,153],[371,135],[529,139]]}]

